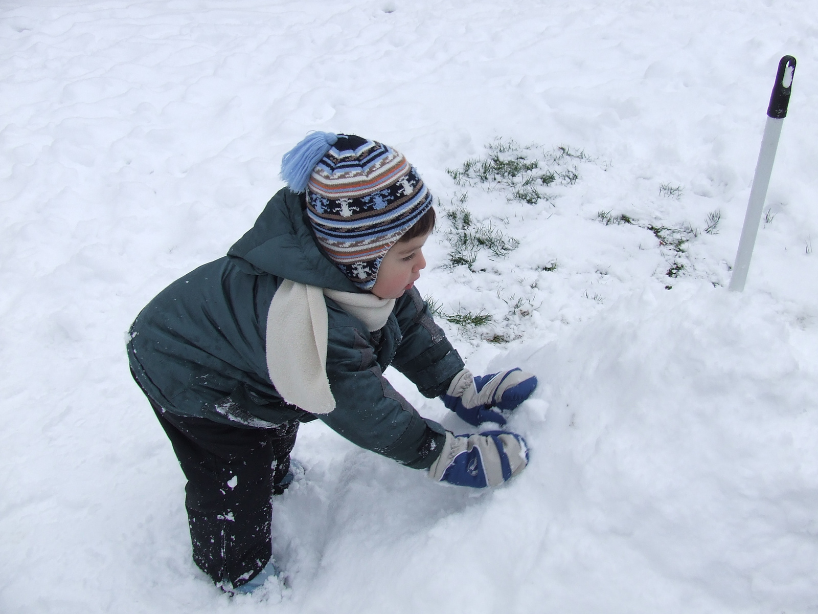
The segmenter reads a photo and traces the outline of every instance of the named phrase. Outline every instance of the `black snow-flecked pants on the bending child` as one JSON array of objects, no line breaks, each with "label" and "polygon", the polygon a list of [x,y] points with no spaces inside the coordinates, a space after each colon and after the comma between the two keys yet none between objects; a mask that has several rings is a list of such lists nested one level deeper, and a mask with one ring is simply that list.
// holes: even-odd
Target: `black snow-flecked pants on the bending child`
[{"label": "black snow-flecked pants on the bending child", "polygon": [[193,560],[217,584],[245,584],[272,555],[271,497],[284,490],[299,422],[237,428],[151,406],[187,477]]}]

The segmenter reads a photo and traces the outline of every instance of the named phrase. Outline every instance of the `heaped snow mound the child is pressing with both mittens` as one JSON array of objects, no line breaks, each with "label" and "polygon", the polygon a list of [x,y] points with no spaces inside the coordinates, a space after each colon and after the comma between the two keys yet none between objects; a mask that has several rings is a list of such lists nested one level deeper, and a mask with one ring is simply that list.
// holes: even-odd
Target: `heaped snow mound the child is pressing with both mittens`
[{"label": "heaped snow mound the child is pressing with both mittens", "polygon": [[806,611],[815,341],[765,296],[689,284],[498,357],[542,381],[509,425],[531,445],[527,471],[469,493],[353,450],[319,461],[277,508],[300,605]]}]

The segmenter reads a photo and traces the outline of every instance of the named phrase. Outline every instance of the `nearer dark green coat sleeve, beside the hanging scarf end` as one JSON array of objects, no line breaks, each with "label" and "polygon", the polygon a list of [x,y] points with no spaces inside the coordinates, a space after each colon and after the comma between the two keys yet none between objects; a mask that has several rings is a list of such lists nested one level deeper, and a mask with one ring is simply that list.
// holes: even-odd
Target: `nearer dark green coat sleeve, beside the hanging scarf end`
[{"label": "nearer dark green coat sleeve, beside the hanging scarf end", "polygon": [[383,376],[375,348],[353,326],[330,327],[326,374],[335,409],[319,415],[341,436],[415,469],[438,458],[445,430],[421,418]]}]

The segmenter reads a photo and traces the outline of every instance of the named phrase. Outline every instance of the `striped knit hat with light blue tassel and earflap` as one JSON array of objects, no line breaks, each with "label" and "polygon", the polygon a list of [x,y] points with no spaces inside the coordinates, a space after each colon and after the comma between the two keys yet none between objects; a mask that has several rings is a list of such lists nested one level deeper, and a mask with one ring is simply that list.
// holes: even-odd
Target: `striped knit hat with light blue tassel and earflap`
[{"label": "striped knit hat with light blue tassel and earflap", "polygon": [[285,153],[281,178],[293,192],[306,189],[318,242],[362,290],[375,286],[386,252],[432,206],[401,153],[354,134],[309,134]]}]

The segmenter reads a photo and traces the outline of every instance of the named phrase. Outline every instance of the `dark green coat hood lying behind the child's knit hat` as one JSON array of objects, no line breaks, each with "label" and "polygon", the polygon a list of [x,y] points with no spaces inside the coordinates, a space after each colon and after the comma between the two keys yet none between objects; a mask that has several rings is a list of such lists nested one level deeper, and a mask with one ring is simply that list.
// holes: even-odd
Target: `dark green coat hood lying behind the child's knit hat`
[{"label": "dark green coat hood lying behind the child's knit hat", "polygon": [[303,195],[285,187],[270,199],[253,228],[227,251],[249,273],[269,273],[309,286],[362,292],[318,246]]}]

